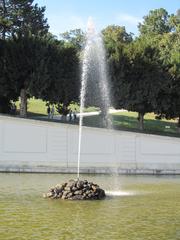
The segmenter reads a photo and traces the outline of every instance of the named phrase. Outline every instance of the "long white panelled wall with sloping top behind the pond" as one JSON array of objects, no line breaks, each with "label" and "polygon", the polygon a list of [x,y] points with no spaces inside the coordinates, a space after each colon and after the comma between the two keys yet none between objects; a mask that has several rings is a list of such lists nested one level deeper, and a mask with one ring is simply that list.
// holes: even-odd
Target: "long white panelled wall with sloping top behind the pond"
[{"label": "long white panelled wall with sloping top behind the pond", "polygon": [[[0,171],[76,172],[78,127],[0,116]],[[83,128],[81,172],[180,173],[180,138]]]}]

